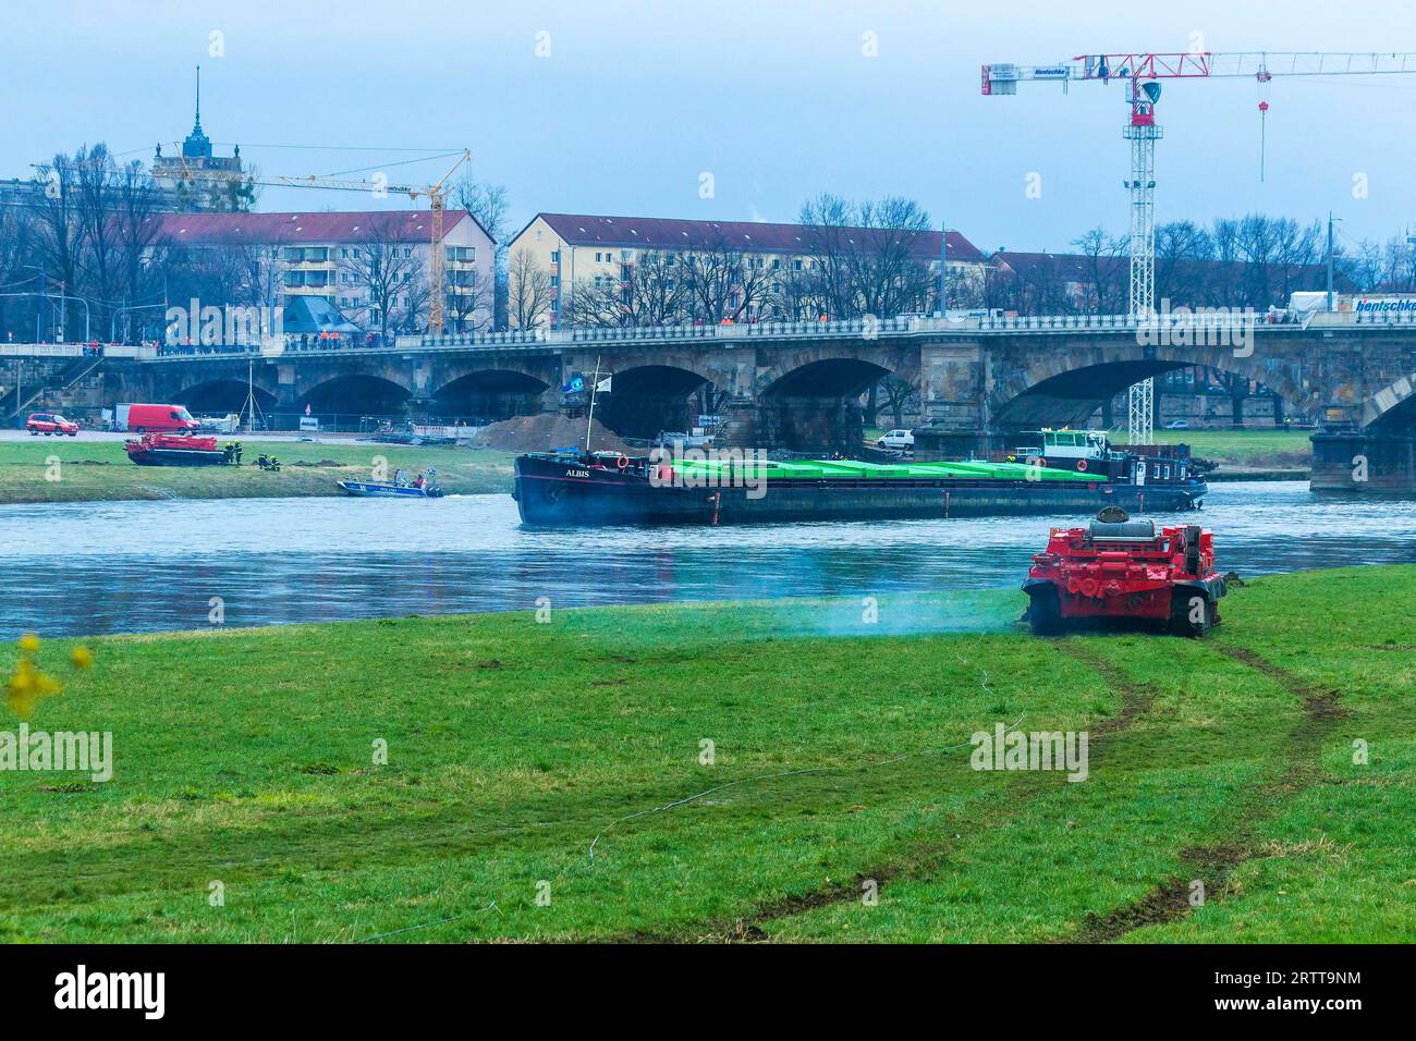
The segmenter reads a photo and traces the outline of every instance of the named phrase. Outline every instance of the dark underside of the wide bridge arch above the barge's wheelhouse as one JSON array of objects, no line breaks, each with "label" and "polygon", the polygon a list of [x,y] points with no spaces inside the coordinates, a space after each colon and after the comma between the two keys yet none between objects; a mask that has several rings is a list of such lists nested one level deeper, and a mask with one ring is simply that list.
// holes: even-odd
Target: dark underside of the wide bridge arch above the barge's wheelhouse
[{"label": "dark underside of the wide bridge arch above the barge's wheelhouse", "polygon": [[[1290,367],[1229,347],[1147,347],[1143,344],[1039,350],[1025,367],[995,382],[988,415],[995,426],[1082,425],[1117,394],[1141,380],[1202,365],[1252,380],[1276,394],[1287,412],[1311,414],[1318,395]],[[1164,384],[1158,384],[1164,395]]]}]

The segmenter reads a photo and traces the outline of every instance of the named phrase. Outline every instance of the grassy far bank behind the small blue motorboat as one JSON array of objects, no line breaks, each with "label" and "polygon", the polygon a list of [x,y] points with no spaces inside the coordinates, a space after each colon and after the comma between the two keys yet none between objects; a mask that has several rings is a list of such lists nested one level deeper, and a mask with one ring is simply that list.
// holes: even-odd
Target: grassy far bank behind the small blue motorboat
[{"label": "grassy far bank behind the small blue motorboat", "polygon": [[[262,452],[273,453],[283,469],[256,469]],[[456,494],[511,489],[511,456],[503,452],[248,440],[242,466],[137,466],[118,440],[45,438],[0,442],[0,503],[337,496],[343,493],[336,482],[367,479],[377,456],[388,460],[389,473],[395,467],[418,472],[436,466],[443,487]],[[51,466],[54,457],[59,460],[57,470]]]}]

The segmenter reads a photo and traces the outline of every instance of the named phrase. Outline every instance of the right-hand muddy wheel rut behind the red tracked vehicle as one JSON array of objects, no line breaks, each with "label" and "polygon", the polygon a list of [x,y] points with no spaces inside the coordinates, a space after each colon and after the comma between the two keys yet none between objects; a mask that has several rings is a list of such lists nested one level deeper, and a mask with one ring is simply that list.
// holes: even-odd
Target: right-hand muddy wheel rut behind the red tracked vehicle
[{"label": "right-hand muddy wheel rut behind the red tracked vehicle", "polygon": [[1294,673],[1266,661],[1246,647],[1214,643],[1215,650],[1239,661],[1279,683],[1298,698],[1303,718],[1289,732],[1283,752],[1283,772],[1260,786],[1249,800],[1239,820],[1225,841],[1215,846],[1181,850],[1185,861],[1185,877],[1172,877],[1160,882],[1131,904],[1116,908],[1110,914],[1089,915],[1082,928],[1054,942],[1061,943],[1107,943],[1133,929],[1147,925],[1178,922],[1191,911],[1191,884],[1204,882],[1205,899],[1219,899],[1228,889],[1235,868],[1264,854],[1255,840],[1260,824],[1277,816],[1279,810],[1298,792],[1321,782],[1323,742],[1337,722],[1348,712],[1340,704],[1341,691],[1324,691]]}]

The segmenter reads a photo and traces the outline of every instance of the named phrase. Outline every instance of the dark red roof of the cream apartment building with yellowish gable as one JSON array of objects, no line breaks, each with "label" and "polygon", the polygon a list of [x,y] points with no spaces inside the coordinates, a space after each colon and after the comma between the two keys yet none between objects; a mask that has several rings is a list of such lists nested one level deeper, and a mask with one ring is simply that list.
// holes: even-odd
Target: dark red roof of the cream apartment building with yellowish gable
[{"label": "dark red roof of the cream apartment building with yellowish gable", "polygon": [[[735,249],[796,254],[807,249],[810,229],[801,224],[765,221],[684,221],[671,217],[592,217],[589,214],[537,214],[571,245],[639,246],[675,249],[690,244],[722,241]],[[534,220],[534,218],[532,218]],[[530,227],[530,225],[528,225]],[[872,228],[844,228],[862,237],[879,235]],[[915,254],[939,256],[939,232],[916,234]],[[949,259],[981,263],[984,256],[957,231],[949,232]]]}]

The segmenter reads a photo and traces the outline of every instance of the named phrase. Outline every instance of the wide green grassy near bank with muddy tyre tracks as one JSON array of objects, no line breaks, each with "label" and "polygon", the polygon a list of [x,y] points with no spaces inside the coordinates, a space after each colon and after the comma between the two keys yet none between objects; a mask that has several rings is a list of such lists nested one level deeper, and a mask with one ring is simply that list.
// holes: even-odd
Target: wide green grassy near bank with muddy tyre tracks
[{"label": "wide green grassy near bank with muddy tyre tracks", "polygon": [[[1409,939],[1413,595],[1262,579],[1202,643],[1010,591],[45,642],[30,727],[116,768],[0,772],[0,939]],[[1015,721],[1087,779],[970,769]]]}]

